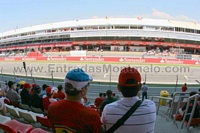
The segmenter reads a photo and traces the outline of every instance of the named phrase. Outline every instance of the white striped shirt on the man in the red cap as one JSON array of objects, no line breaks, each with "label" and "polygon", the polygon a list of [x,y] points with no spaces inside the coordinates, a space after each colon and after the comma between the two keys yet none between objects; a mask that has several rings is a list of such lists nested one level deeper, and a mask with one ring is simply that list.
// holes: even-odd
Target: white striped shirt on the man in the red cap
[{"label": "white striped shirt on the man in the red cap", "polygon": [[[134,104],[138,97],[122,98],[105,106],[101,121],[108,130]],[[156,121],[156,106],[153,101],[144,100],[140,107],[121,125],[115,133],[153,133]]]}]

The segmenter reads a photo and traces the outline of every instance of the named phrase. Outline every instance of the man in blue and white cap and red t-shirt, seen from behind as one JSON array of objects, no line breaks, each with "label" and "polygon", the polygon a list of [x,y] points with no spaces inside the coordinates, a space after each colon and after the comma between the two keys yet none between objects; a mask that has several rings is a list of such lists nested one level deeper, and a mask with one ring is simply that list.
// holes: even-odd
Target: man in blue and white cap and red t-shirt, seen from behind
[{"label": "man in blue and white cap and red t-shirt, seen from behind", "polygon": [[101,133],[98,112],[81,103],[81,99],[87,94],[90,80],[91,77],[80,68],[67,73],[64,87],[66,100],[49,106],[48,118],[52,125],[64,125],[77,133]]}]

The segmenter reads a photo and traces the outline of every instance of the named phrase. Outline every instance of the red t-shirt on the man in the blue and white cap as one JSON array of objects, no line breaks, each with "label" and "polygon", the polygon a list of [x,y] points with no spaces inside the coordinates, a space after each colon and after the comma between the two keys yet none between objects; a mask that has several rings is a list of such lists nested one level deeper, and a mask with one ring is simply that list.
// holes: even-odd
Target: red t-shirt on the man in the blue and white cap
[{"label": "red t-shirt on the man in the blue and white cap", "polygon": [[101,133],[98,112],[79,102],[60,100],[51,103],[47,116],[52,125],[65,125],[77,133]]}]

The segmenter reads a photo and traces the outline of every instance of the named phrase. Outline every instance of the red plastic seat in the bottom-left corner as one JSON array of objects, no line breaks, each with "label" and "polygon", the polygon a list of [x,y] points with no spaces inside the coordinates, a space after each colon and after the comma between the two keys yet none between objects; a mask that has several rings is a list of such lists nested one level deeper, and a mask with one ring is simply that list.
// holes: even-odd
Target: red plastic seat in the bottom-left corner
[{"label": "red plastic seat in the bottom-left corner", "polygon": [[16,120],[10,120],[4,124],[0,124],[0,128],[2,128],[6,133],[30,133],[33,126]]}]

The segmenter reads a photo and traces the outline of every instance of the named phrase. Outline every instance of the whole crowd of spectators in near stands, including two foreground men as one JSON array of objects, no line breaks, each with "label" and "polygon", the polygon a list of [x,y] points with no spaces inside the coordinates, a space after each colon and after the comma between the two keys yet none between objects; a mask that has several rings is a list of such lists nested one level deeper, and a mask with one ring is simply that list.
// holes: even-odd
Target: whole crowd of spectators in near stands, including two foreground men
[{"label": "whole crowd of spectators in near stands, including two foreground men", "polygon": [[[54,132],[59,127],[72,133],[154,132],[156,105],[147,99],[148,86],[145,82],[141,84],[141,75],[135,68],[126,67],[119,74],[117,89],[123,98],[107,90],[99,93],[99,97],[91,103],[87,98],[90,82],[92,77],[80,68],[66,74],[64,86],[43,84],[41,87],[18,77],[16,82],[6,82],[0,90],[0,103],[3,98],[14,106],[25,104],[40,108],[46,113]],[[142,100],[138,97],[140,91]],[[186,84],[182,91],[187,91]],[[190,96],[194,94],[191,92]],[[190,105],[193,104],[194,100]],[[196,107],[194,118],[200,117],[199,107],[200,104]],[[3,104],[0,104],[0,110],[2,115],[6,115]],[[185,107],[181,110],[184,112]]]}]

